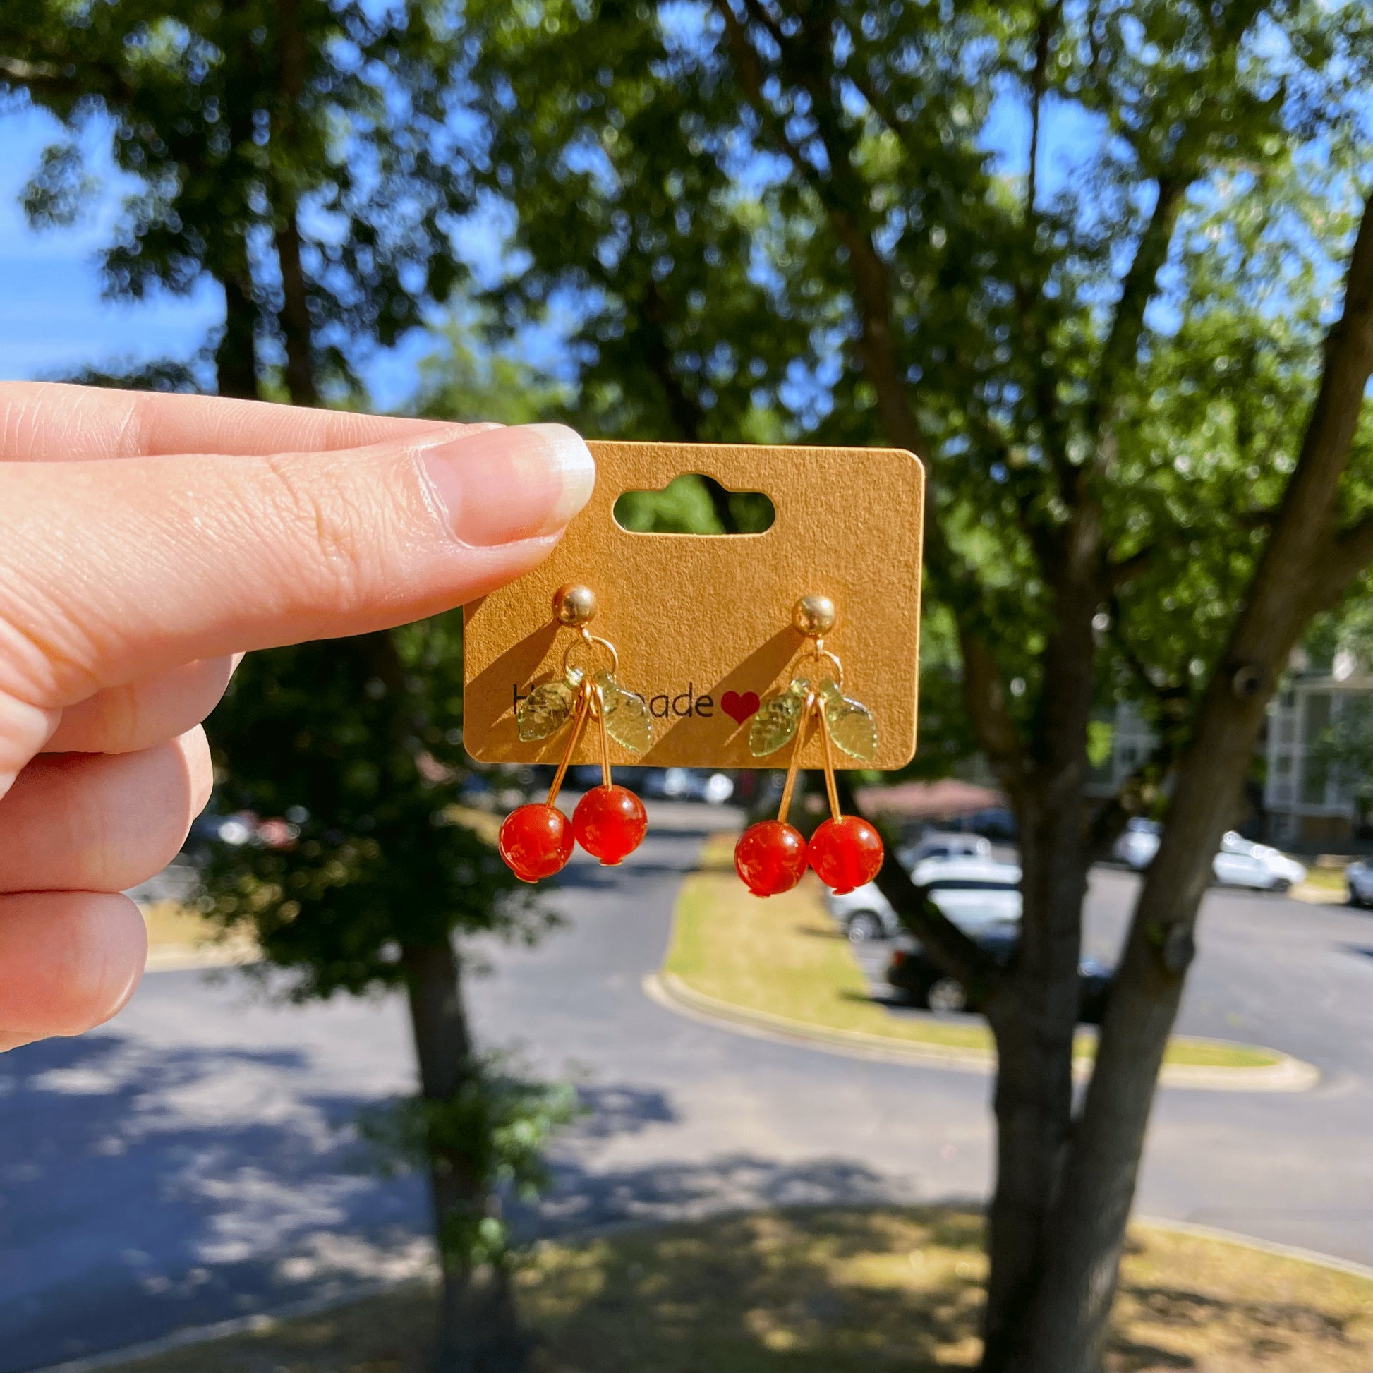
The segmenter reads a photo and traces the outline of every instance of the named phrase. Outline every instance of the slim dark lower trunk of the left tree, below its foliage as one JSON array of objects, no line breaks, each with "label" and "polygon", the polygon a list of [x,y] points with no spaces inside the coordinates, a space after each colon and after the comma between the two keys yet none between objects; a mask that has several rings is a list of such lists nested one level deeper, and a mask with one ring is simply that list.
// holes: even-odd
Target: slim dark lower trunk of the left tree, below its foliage
[{"label": "slim dark lower trunk of the left tree, below its foliage", "polygon": [[[411,1026],[426,1101],[449,1101],[472,1075],[472,1045],[463,1006],[461,964],[452,945],[411,945]],[[498,1200],[474,1167],[452,1149],[434,1149],[430,1185],[439,1236],[442,1293],[434,1373],[520,1373],[529,1344],[519,1329],[508,1271],[452,1254],[443,1234],[456,1219],[498,1214]]]}]

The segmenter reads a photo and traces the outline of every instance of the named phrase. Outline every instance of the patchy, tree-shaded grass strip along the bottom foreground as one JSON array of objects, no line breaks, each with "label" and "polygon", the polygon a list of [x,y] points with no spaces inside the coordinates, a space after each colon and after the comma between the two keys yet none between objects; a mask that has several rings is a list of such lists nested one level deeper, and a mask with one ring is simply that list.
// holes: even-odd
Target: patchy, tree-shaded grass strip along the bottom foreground
[{"label": "patchy, tree-shaded grass strip along the bottom foreground", "polygon": [[[936,1373],[975,1366],[982,1218],[759,1211],[541,1244],[519,1276],[534,1373]],[[1366,1373],[1368,1278],[1137,1225],[1108,1373]],[[415,1287],[119,1373],[426,1373]]]}]

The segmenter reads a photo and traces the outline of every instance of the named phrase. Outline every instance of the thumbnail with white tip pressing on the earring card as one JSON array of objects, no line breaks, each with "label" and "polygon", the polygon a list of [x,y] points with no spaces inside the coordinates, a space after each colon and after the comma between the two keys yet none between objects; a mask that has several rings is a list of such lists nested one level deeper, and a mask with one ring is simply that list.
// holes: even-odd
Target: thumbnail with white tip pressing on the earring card
[{"label": "thumbnail with white tip pressing on the earring card", "polygon": [[454,535],[479,548],[557,534],[596,485],[596,463],[566,424],[483,430],[419,459]]}]

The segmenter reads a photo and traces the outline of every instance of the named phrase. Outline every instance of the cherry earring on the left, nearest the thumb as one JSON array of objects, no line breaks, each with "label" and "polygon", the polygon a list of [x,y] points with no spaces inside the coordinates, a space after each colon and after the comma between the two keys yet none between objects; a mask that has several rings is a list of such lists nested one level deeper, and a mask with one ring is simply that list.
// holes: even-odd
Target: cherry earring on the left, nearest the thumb
[{"label": "cherry earring on the left, nearest the thumb", "polygon": [[[567,629],[575,629],[578,637],[563,654],[563,676],[535,686],[519,703],[515,722],[526,743],[552,737],[568,721],[573,730],[548,799],[512,810],[501,825],[501,858],[522,881],[538,881],[559,872],[573,855],[574,840],[603,865],[614,866],[643,843],[648,829],[644,803],[627,787],[614,785],[610,776],[611,739],[636,754],[654,741],[648,704],[615,680],[619,671],[615,645],[586,627],[596,616],[596,595],[589,586],[559,586],[553,616]],[[599,652],[607,654],[610,666],[593,670],[590,665],[573,663],[573,652],[579,647],[590,649],[592,660]],[[601,784],[582,796],[568,820],[553,803],[588,719],[600,728]]]}]

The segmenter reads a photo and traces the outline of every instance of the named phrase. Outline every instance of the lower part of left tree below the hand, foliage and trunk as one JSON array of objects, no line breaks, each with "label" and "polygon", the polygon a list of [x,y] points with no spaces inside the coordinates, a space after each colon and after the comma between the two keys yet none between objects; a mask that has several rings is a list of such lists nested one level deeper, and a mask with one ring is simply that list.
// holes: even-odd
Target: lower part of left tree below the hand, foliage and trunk
[{"label": "lower part of left tree below the hand, foliage and trunk", "polygon": [[540,1146],[571,1103],[483,1054],[467,1020],[472,936],[533,941],[549,917],[454,816],[460,636],[453,612],[244,660],[210,722],[217,795],[297,833],[217,846],[205,905],[255,935],[264,973],[286,969],[294,1000],[405,991],[420,1096],[372,1133],[428,1167],[443,1260],[435,1369],[504,1373],[523,1366],[526,1341],[501,1199],[540,1181]]}]

